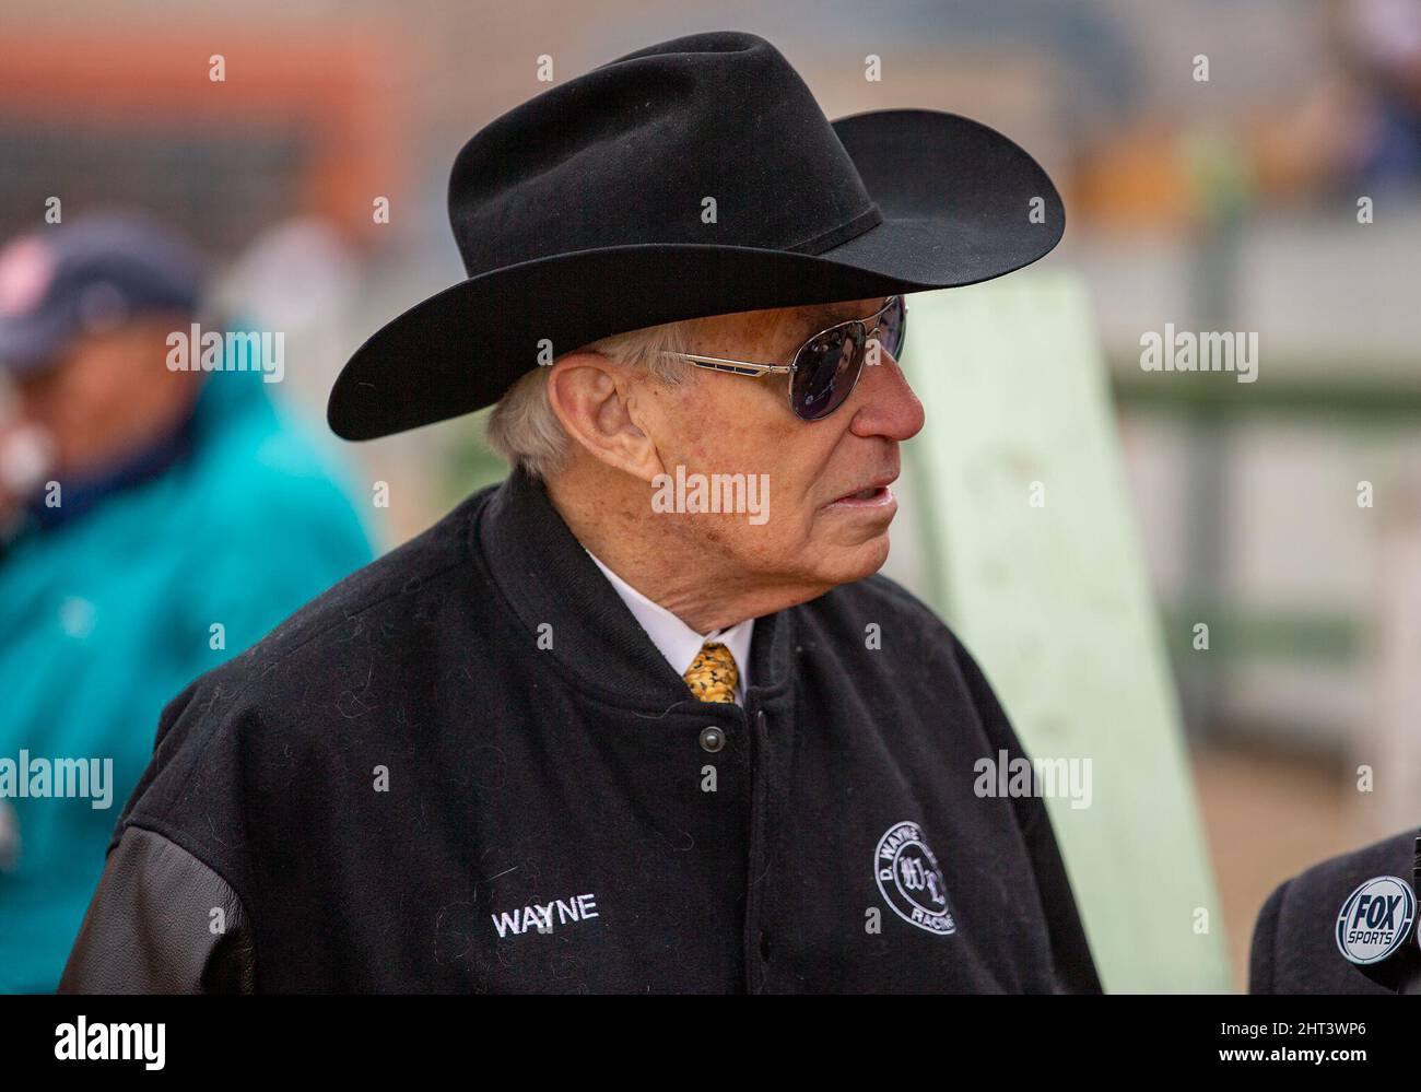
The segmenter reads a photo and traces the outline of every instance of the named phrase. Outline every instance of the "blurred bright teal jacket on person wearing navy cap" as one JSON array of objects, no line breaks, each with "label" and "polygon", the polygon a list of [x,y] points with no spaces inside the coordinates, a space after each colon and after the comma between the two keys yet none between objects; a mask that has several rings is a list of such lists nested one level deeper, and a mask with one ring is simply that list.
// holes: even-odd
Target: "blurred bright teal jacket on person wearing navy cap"
[{"label": "blurred bright teal jacket on person wearing navy cap", "polygon": [[0,991],[58,984],[168,700],[371,560],[260,373],[207,375],[179,451],[0,550]]}]

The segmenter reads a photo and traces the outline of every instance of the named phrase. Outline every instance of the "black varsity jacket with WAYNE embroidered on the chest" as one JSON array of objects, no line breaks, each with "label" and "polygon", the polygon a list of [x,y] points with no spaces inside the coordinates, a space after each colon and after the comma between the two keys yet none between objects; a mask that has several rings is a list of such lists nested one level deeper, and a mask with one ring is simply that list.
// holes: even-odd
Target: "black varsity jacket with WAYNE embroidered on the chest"
[{"label": "black varsity jacket with WAYNE embroidered on the chest", "polygon": [[1100,990],[931,611],[871,577],[752,664],[692,698],[514,473],[168,705],[61,990]]}]

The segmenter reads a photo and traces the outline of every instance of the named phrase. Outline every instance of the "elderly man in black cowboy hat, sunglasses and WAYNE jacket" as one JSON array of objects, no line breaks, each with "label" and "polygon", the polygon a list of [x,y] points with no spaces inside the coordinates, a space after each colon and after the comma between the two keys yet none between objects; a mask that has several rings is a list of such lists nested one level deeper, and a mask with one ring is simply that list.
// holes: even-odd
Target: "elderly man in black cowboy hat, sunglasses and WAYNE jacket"
[{"label": "elderly man in black cowboy hat, sunglasses and WAYNE jacket", "polygon": [[874,574],[902,293],[1049,252],[1050,179],[716,33],[495,121],[450,219],[330,419],[496,404],[513,473],[168,707],[64,988],[1098,991],[1042,801],[973,791],[990,687]]}]

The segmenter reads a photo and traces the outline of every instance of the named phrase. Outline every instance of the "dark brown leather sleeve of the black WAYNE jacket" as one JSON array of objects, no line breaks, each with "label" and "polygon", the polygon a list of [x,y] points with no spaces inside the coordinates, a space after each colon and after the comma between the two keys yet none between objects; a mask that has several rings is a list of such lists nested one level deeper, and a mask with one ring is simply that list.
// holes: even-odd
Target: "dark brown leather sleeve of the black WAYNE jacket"
[{"label": "dark brown leather sleeve of the black WAYNE jacket", "polygon": [[60,992],[254,991],[252,923],[237,893],[178,843],[129,826],[104,864]]}]

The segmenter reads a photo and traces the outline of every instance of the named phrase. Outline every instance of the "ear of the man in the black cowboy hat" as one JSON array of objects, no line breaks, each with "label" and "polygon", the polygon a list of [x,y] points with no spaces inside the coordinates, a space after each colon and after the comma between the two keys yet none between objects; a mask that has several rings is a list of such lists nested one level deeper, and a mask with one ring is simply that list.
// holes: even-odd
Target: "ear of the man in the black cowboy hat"
[{"label": "ear of the man in the black cowboy hat", "polygon": [[657,445],[637,424],[637,385],[628,368],[600,353],[568,353],[551,365],[547,401],[573,442],[649,483],[664,468]]}]

